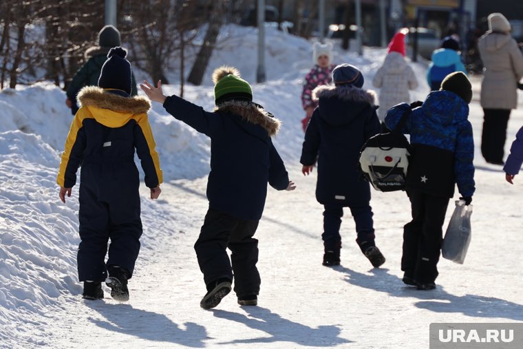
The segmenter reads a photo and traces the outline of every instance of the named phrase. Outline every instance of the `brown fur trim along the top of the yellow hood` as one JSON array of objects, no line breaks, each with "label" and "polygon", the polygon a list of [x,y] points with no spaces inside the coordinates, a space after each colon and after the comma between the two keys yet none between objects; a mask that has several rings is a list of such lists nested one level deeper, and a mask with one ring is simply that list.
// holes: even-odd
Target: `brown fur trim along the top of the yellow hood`
[{"label": "brown fur trim along the top of the yellow hood", "polygon": [[151,109],[151,101],[145,96],[122,97],[96,86],[83,87],[78,92],[78,102],[83,107],[93,106],[132,114],[147,113]]}]

